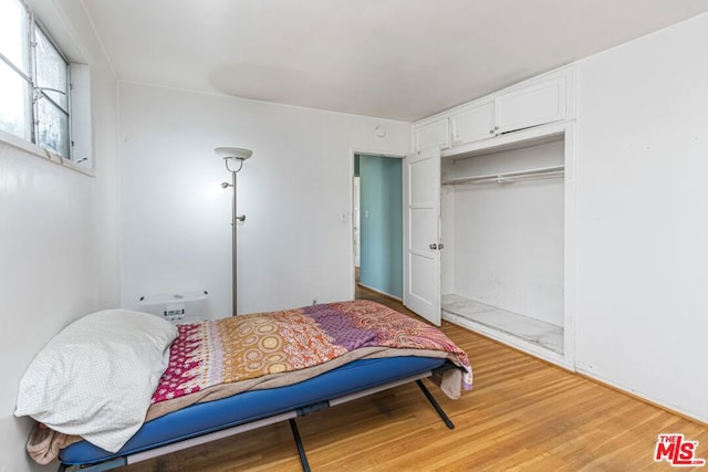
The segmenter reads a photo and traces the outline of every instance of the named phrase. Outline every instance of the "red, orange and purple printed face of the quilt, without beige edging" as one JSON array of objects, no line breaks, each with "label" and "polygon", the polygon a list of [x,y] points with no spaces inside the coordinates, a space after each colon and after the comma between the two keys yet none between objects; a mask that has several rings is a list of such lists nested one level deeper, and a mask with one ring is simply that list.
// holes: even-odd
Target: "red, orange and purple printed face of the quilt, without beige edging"
[{"label": "red, orange and purple printed face of the quilt, without beige edging", "polygon": [[[180,325],[153,403],[327,363],[334,368],[340,363],[331,361],[343,356],[383,357],[376,355],[381,348],[421,356],[439,352],[464,370],[462,385],[471,388],[467,354],[438,328],[374,302],[354,301]],[[357,349],[362,356],[352,356]]]}]

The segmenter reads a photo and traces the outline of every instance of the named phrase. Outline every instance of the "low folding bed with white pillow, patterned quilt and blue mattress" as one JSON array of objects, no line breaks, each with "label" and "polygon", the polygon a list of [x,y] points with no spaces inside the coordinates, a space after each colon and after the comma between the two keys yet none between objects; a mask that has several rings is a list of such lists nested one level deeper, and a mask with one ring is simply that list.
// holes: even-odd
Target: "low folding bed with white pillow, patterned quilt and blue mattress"
[{"label": "low folding bed with white pillow, patterned quilt and blue mattress", "polygon": [[38,421],[30,455],[59,458],[62,471],[110,470],[280,421],[306,471],[299,416],[395,386],[416,382],[454,428],[427,377],[451,398],[471,388],[467,355],[447,336],[374,302],[177,327],[117,310],[73,323],[42,349],[15,415]]}]

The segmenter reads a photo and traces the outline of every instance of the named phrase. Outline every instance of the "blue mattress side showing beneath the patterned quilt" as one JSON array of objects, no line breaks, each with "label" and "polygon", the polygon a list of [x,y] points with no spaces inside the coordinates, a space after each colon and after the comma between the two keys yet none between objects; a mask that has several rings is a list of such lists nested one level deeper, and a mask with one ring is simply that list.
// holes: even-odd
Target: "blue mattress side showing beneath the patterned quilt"
[{"label": "blue mattress side showing beneath the patterned quilt", "polygon": [[61,450],[59,458],[66,465],[79,465],[126,457],[400,380],[444,363],[413,356],[360,359],[291,386],[247,391],[174,411],[143,424],[116,453],[81,441]]}]

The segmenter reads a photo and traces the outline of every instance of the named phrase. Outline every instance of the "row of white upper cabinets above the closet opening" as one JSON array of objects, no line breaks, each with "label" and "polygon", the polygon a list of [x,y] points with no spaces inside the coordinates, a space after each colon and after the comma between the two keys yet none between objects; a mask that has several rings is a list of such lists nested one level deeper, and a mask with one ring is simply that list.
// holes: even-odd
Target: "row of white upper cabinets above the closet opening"
[{"label": "row of white upper cabinets above the closet opening", "polygon": [[525,81],[414,125],[414,149],[462,146],[574,117],[573,67]]}]

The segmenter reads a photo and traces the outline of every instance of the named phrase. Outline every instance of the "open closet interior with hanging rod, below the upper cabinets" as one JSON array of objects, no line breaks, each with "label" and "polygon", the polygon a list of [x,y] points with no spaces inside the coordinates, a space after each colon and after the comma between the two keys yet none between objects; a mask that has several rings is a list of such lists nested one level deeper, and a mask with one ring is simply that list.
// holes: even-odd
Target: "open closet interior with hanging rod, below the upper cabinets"
[{"label": "open closet interior with hanging rod, below the upper cabinets", "polygon": [[563,356],[565,134],[441,160],[442,318]]}]

